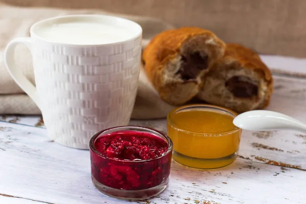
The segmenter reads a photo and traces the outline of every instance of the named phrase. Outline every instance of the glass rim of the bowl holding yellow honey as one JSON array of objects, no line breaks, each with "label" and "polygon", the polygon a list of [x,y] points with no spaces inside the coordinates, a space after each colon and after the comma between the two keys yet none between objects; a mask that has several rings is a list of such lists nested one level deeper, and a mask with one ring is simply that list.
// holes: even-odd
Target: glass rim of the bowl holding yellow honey
[{"label": "glass rim of the bowl holding yellow honey", "polygon": [[236,113],[235,111],[232,111],[230,109],[223,108],[223,107],[220,107],[220,106],[208,105],[208,104],[192,104],[192,105],[180,106],[180,107],[177,107],[177,108],[173,109],[172,111],[170,111],[167,115],[167,123],[170,124],[174,129],[176,129],[178,131],[189,133],[189,134],[191,133],[191,134],[195,134],[195,135],[201,135],[201,136],[225,136],[225,135],[232,134],[232,133],[235,133],[235,132],[238,132],[238,131],[241,130],[239,127],[235,126],[236,129],[234,129],[232,131],[223,132],[223,133],[198,133],[198,132],[184,130],[184,129],[180,128],[180,126],[178,126],[177,124],[175,124],[171,120],[171,115],[173,115],[177,111],[192,109],[192,108],[196,108],[196,107],[198,107],[198,108],[208,108],[208,109],[217,109],[217,110],[225,111],[227,113],[230,113],[233,116],[233,118],[235,118],[238,115],[238,113]]}]

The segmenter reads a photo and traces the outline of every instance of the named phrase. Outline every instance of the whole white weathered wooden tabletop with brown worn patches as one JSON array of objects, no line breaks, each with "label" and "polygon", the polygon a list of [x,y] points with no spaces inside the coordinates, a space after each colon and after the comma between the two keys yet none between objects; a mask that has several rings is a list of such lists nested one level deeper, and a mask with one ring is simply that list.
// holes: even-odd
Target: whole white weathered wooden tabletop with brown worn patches
[{"label": "whole white weathered wooden tabletop with brown worn patches", "polygon": [[[306,60],[263,59],[277,68],[267,109],[306,122]],[[48,139],[40,120],[0,116],[1,204],[306,203],[305,134],[243,131],[239,158],[232,165],[206,171],[172,162],[168,188],[149,200],[132,202],[99,193],[91,183],[89,151]],[[166,131],[164,119],[131,124]]]}]

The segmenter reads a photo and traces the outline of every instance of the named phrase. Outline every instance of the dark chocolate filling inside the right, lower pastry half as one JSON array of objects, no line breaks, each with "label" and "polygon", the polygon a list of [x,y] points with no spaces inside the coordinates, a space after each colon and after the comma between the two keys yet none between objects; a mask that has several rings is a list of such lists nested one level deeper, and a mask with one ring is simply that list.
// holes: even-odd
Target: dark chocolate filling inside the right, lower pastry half
[{"label": "dark chocolate filling inside the right, lower pastry half", "polygon": [[252,96],[257,96],[258,86],[247,82],[247,80],[250,79],[246,77],[232,77],[231,79],[227,80],[225,86],[236,97],[250,98]]}]

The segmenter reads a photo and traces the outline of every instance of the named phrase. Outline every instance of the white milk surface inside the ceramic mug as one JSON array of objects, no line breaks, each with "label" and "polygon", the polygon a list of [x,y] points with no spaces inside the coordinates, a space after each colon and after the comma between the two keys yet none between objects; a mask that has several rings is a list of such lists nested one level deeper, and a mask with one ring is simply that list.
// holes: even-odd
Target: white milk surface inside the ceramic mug
[{"label": "white milk surface inside the ceramic mug", "polygon": [[126,28],[94,21],[43,25],[35,33],[48,41],[79,45],[115,43],[133,37]]}]

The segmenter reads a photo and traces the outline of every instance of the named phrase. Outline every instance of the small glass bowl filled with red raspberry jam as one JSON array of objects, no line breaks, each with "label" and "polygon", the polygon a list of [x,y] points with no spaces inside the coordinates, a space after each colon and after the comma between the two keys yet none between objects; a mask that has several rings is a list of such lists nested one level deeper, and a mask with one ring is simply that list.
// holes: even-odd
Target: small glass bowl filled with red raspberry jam
[{"label": "small glass bowl filled with red raspberry jam", "polygon": [[92,182],[100,192],[139,200],[166,189],[173,148],[167,135],[147,127],[112,127],[89,145]]}]

